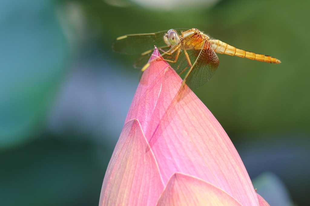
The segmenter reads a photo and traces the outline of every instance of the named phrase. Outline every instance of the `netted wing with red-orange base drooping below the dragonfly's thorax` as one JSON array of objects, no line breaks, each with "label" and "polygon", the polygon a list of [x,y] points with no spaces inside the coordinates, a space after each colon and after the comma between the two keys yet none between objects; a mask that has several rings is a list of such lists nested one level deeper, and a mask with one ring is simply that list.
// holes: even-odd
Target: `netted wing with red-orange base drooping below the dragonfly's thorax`
[{"label": "netted wing with red-orange base drooping below the dragonfly's thorax", "polygon": [[[191,90],[195,90],[205,84],[215,73],[219,67],[219,58],[215,54],[209,41],[205,41],[204,46],[199,51],[197,61],[193,64],[193,69],[188,74],[185,80],[185,84],[188,85]],[[192,60],[191,60],[192,61]]]}]

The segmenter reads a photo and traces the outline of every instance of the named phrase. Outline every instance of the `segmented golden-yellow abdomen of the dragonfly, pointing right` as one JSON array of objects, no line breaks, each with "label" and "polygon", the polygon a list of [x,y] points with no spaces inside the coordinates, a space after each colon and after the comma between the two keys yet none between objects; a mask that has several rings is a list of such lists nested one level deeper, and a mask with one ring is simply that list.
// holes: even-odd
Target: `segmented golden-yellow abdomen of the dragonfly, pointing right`
[{"label": "segmented golden-yellow abdomen of the dragonfly, pointing right", "polygon": [[281,61],[279,59],[276,59],[274,57],[271,56],[267,56],[264,54],[256,54],[253,52],[248,52],[242,49],[237,49],[236,47],[233,47],[231,45],[226,44],[223,41],[220,41],[218,39],[216,40],[210,40],[212,49],[220,54],[228,54],[231,56],[238,56],[238,57],[242,57],[242,58],[249,58],[249,59],[253,59],[253,60],[258,60],[260,62],[269,62],[269,63],[281,63]]}]

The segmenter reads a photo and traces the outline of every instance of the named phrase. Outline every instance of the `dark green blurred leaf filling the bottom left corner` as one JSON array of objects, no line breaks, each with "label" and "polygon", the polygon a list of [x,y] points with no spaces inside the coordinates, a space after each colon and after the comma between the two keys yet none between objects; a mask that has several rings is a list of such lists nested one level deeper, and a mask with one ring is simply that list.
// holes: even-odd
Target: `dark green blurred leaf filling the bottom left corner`
[{"label": "dark green blurred leaf filling the bottom left corner", "polygon": [[0,205],[98,205],[112,150],[45,134],[0,152]]}]

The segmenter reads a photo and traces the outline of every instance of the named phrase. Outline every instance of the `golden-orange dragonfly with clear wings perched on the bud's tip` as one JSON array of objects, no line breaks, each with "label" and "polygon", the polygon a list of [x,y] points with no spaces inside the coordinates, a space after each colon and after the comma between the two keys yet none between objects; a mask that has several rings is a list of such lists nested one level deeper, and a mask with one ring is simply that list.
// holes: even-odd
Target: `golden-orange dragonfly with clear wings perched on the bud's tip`
[{"label": "golden-orange dragonfly with clear wings perched on the bud's tip", "polygon": [[[205,84],[219,67],[216,53],[249,58],[261,62],[279,64],[277,58],[237,49],[223,41],[213,39],[197,28],[170,29],[156,33],[129,34],[118,37],[112,49],[121,54],[140,55],[134,67],[144,71],[149,65],[148,59],[156,46],[162,59],[181,75],[186,74],[183,85],[195,90]],[[158,59],[158,60],[162,60]]]}]

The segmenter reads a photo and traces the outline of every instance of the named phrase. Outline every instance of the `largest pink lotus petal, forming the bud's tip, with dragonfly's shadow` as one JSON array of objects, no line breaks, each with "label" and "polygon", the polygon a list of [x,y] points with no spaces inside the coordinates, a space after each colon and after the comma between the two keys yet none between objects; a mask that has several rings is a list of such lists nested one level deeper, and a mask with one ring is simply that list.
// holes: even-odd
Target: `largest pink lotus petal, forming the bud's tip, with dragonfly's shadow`
[{"label": "largest pink lotus petal, forming the bud's tip, with dragonfly's shadow", "polygon": [[242,205],[258,206],[250,178],[224,129],[186,85],[181,87],[182,79],[169,64],[158,58],[155,49],[126,121],[139,119],[164,184],[182,172],[221,188]]}]

